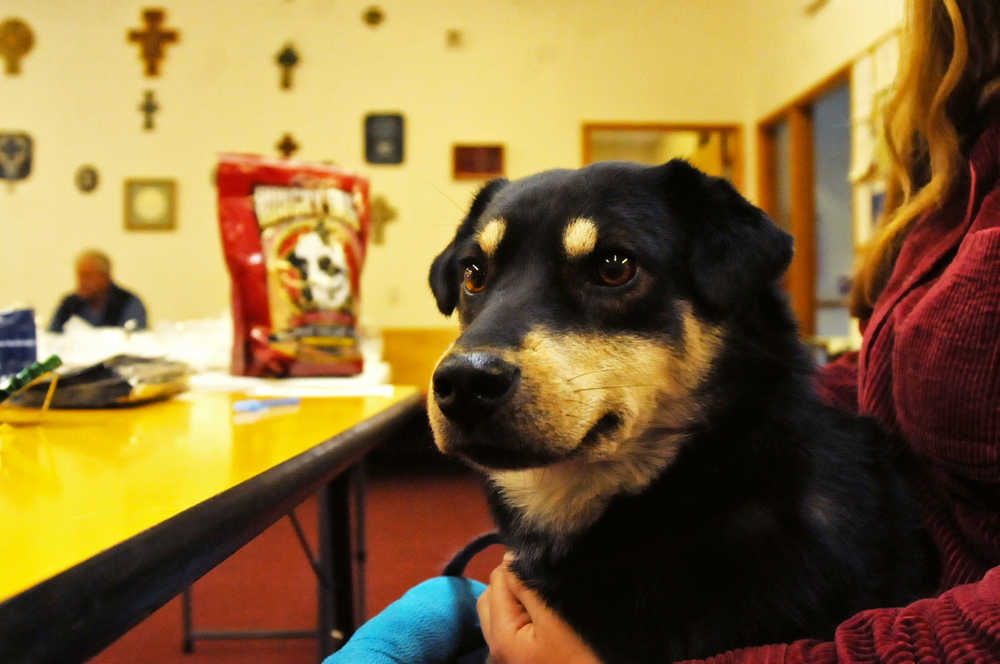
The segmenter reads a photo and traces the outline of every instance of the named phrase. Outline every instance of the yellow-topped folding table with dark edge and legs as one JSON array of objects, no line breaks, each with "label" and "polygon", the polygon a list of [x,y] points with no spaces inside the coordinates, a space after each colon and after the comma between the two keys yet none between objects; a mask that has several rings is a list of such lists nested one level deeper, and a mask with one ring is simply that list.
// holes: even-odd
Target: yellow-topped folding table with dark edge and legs
[{"label": "yellow-topped folding table with dark edge and legs", "polygon": [[319,653],[357,611],[349,471],[423,411],[416,389],[235,413],[235,393],[0,407],[0,662],[99,652],[320,492]]}]

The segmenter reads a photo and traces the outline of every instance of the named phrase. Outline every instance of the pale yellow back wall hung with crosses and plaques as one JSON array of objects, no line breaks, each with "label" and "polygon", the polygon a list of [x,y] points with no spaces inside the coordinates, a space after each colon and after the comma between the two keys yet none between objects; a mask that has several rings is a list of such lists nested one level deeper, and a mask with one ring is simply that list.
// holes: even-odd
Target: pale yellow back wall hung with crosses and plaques
[{"label": "pale yellow back wall hung with crosses and plaques", "polygon": [[[865,0],[867,1],[867,0]],[[167,9],[181,42],[159,79],[142,75],[125,32],[151,4]],[[290,131],[298,156],[366,173],[399,210],[365,268],[363,320],[447,324],[426,287],[475,185],[450,175],[453,142],[502,142],[521,176],[580,163],[580,125],[600,121],[731,122],[747,117],[742,59],[747,3],[669,0],[385,0],[386,22],[361,20],[363,1],[4,0],[36,35],[19,77],[0,76],[0,128],[36,142],[29,180],[0,186],[0,306],[45,316],[71,288],[71,258],[108,250],[119,281],[152,319],[210,316],[228,303],[211,173],[218,151],[275,154]],[[445,45],[445,32],[464,46]],[[291,92],[278,89],[274,54],[291,40],[302,57]],[[706,48],[706,45],[712,45]],[[153,132],[136,110],[154,89]],[[362,155],[362,117],[406,116],[407,159],[374,167]],[[100,188],[73,173],[94,164]],[[176,178],[179,227],[122,230],[127,177]]]}]

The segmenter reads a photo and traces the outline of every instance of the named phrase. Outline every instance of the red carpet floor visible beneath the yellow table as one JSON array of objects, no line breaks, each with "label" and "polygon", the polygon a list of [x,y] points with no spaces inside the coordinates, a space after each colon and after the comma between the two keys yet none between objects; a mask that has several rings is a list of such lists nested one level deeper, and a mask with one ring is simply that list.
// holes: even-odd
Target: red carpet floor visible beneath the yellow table
[{"label": "red carpet floor visible beneath the yellow table", "polygon": [[[374,615],[407,588],[441,572],[466,542],[492,528],[480,481],[420,471],[368,480],[365,590]],[[296,509],[316,550],[316,501]],[[467,574],[485,580],[500,562],[491,547]],[[196,629],[312,629],[316,582],[288,519],[282,519],[194,586]],[[175,598],[91,659],[92,664],[310,664],[313,639],[199,641],[181,652],[181,604]]]}]

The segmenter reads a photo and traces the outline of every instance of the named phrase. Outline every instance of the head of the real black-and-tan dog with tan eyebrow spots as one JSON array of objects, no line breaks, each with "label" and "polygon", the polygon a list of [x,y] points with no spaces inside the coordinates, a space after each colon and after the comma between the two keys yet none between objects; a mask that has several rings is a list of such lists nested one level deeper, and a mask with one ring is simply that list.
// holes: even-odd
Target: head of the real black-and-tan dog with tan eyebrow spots
[{"label": "head of the real black-and-tan dog with tan eyebrow spots", "polygon": [[603,467],[637,490],[697,421],[725,321],[790,257],[787,234],[683,161],[487,184],[430,271],[462,325],[432,379],[436,444],[494,478]]}]

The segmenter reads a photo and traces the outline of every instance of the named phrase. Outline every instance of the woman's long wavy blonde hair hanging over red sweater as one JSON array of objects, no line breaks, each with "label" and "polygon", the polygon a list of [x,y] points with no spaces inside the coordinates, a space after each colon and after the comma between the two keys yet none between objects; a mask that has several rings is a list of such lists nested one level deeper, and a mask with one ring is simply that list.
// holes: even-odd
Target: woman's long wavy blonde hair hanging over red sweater
[{"label": "woman's long wavy blonde hair hanging over red sweater", "polygon": [[963,175],[965,153],[1000,90],[1000,0],[906,4],[900,69],[884,116],[885,211],[849,298],[862,318],[885,288],[903,238]]}]

